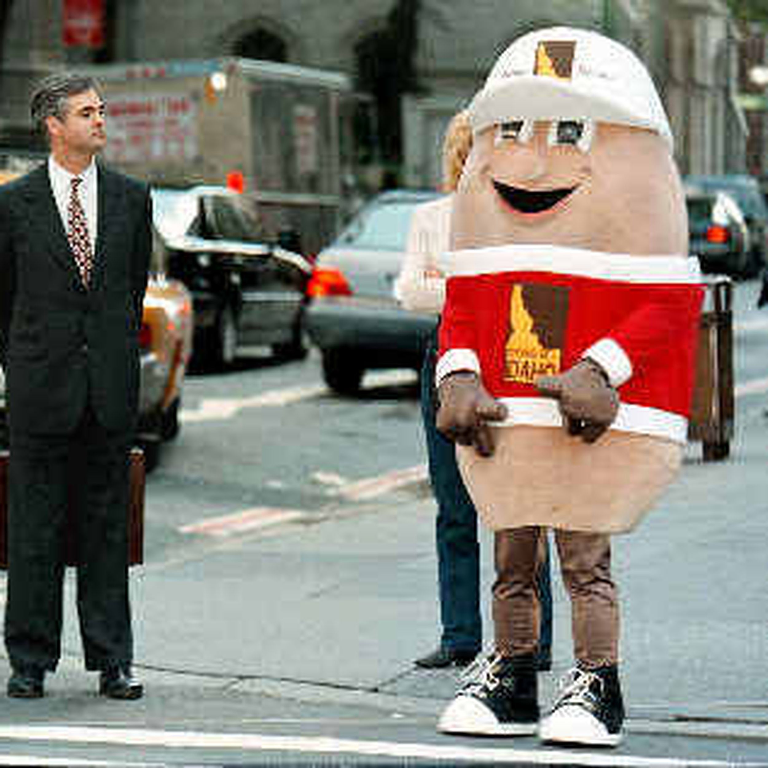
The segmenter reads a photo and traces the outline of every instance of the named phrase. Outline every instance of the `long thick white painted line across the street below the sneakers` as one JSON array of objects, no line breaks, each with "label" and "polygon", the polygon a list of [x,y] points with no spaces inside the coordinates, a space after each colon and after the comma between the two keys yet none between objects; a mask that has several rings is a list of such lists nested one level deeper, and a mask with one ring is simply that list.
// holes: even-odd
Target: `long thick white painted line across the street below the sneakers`
[{"label": "long thick white painted line across the street below the sneakers", "polygon": [[[147,730],[140,728],[101,728],[67,726],[0,727],[0,740],[41,741],[49,743],[84,743],[119,746],[165,747],[169,749],[248,750],[259,752],[292,752],[365,755],[398,759],[466,760],[486,762],[529,763],[563,766],[727,766],[720,760],[677,760],[669,757],[642,757],[614,753],[591,753],[574,750],[518,750],[481,746],[441,746],[394,741],[364,741],[329,737],[266,736],[260,733],[204,733],[200,731]],[[748,763],[747,763],[748,764]]]}]

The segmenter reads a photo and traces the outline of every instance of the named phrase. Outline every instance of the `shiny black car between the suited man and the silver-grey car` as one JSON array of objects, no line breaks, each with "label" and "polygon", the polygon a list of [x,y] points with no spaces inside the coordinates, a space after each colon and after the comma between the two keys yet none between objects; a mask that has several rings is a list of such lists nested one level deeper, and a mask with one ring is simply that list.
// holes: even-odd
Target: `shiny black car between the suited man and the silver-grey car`
[{"label": "shiny black car between the suited man and the silver-grey car", "polygon": [[306,354],[303,315],[312,266],[270,242],[253,203],[227,187],[152,190],[164,272],[190,290],[195,362],[226,367],[241,345],[283,359]]}]

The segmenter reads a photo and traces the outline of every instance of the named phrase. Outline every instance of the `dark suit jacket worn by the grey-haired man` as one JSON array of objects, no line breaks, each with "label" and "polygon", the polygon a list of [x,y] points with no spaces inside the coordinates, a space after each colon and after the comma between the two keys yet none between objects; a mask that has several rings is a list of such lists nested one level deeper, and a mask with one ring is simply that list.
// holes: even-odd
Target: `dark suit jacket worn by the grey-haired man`
[{"label": "dark suit jacket worn by the grey-haired man", "polygon": [[99,165],[85,290],[48,165],[0,187],[0,362],[12,435],[66,434],[86,402],[107,429],[133,429],[150,222],[147,187]]}]

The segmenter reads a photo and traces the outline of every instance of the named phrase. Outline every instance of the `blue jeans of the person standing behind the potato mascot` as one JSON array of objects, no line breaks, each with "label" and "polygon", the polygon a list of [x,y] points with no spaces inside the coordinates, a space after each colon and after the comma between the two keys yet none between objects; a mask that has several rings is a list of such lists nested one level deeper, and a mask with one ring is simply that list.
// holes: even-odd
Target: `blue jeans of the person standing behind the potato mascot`
[{"label": "blue jeans of the person standing behind the potato mascot", "polygon": [[[435,539],[437,544],[442,647],[452,650],[480,650],[480,547],[477,512],[469,498],[456,464],[455,445],[435,426],[435,342],[428,345],[421,377],[422,420],[429,460],[429,480],[437,502]],[[541,657],[551,654],[552,594],[549,548],[536,574],[539,601]]]}]

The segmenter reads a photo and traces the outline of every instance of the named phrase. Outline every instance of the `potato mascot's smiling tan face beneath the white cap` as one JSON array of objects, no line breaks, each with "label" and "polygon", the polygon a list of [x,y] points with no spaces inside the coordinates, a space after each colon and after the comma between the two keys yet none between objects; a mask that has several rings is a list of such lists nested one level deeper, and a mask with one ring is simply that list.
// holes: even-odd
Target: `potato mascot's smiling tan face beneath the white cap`
[{"label": "potato mascot's smiling tan face beneath the white cap", "polygon": [[664,140],[589,121],[511,121],[482,131],[462,175],[452,227],[454,248],[687,249],[680,180]]}]

